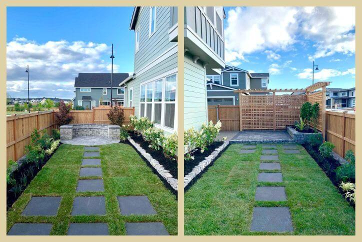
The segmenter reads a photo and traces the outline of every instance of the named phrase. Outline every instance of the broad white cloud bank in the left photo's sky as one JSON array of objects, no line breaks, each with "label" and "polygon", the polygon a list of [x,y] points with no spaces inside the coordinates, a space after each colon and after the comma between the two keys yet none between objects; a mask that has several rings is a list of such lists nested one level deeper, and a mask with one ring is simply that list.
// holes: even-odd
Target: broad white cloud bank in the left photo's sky
[{"label": "broad white cloud bank in the left photo's sky", "polygon": [[[101,55],[109,51],[104,43],[66,40],[37,43],[16,37],[6,45],[7,91],[11,96],[27,96],[26,65],[29,65],[30,94],[74,96],[78,72],[109,72],[110,63]],[[113,71],[119,66],[113,64]]]}]

